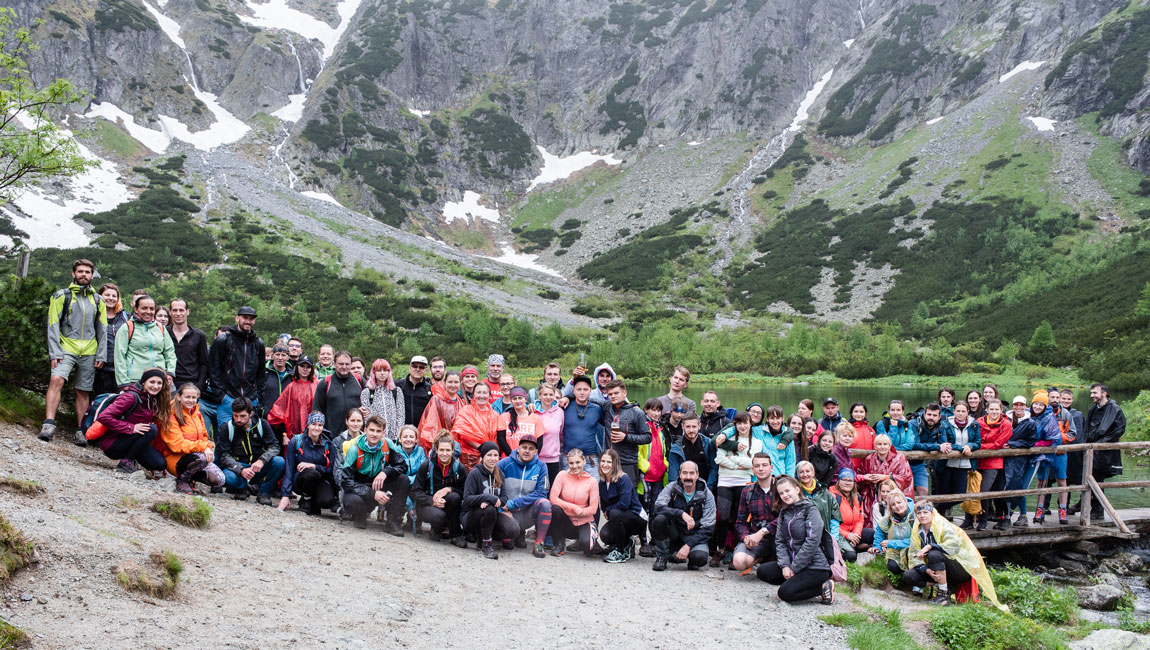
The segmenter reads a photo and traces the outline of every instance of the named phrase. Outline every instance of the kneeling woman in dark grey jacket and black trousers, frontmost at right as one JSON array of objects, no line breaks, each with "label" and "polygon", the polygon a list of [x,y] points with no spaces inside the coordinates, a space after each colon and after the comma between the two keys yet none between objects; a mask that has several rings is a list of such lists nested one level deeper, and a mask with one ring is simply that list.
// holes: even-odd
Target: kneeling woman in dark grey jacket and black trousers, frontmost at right
[{"label": "kneeling woman in dark grey jacket and black trousers, frontmost at right", "polygon": [[822,515],[811,499],[803,497],[798,481],[790,476],[775,480],[779,520],[775,552],[779,559],[759,565],[759,580],[779,586],[784,603],[819,596],[825,605],[835,602],[830,563],[822,550]]}]

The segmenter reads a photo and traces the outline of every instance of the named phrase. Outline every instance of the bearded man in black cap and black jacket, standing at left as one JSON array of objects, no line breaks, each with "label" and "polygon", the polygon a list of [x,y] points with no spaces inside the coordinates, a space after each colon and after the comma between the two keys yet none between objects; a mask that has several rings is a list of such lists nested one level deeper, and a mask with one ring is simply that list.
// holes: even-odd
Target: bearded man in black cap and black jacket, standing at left
[{"label": "bearded man in black cap and black jacket, standing at left", "polygon": [[[220,393],[216,427],[231,420],[231,403],[238,397],[252,400],[259,410],[260,392],[267,375],[267,349],[255,335],[255,309],[244,305],[236,311],[236,324],[217,336],[208,351],[208,376]],[[270,406],[270,405],[267,405]]]}]

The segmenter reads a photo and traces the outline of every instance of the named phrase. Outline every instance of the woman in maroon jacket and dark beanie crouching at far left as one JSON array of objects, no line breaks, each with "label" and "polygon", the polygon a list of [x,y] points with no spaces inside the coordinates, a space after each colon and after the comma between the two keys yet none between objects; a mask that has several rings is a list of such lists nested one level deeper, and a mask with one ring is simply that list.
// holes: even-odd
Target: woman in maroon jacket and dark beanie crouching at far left
[{"label": "woman in maroon jacket and dark beanie crouching at far left", "polygon": [[97,434],[90,439],[105,456],[120,461],[116,472],[131,474],[139,462],[145,469],[163,473],[168,465],[152,441],[160,435],[155,422],[167,422],[170,416],[168,375],[160,368],[148,368],[140,381],[129,384],[97,415],[99,426],[89,427],[87,435]]}]

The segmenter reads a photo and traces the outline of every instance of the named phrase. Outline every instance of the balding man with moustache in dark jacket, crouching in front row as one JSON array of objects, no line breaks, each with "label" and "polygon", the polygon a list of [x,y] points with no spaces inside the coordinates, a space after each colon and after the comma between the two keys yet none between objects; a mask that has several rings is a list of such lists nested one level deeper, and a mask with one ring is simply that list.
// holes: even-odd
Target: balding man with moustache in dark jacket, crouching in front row
[{"label": "balding man with moustache in dark jacket, crouching in front row", "polygon": [[699,481],[699,467],[688,460],[678,467],[678,480],[664,488],[654,503],[651,543],[656,549],[653,571],[667,571],[672,546],[675,561],[688,569],[707,564],[707,540],[715,528],[715,498]]}]

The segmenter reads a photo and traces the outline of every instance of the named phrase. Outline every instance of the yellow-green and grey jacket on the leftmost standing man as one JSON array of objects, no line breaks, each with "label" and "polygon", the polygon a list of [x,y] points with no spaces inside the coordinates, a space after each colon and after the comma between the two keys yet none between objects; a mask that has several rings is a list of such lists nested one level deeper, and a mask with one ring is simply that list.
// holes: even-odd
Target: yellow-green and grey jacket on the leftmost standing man
[{"label": "yellow-green and grey jacket on the leftmost standing man", "polygon": [[[68,300],[68,314],[63,323],[60,315],[64,311],[64,298]],[[97,361],[108,359],[108,314],[103,300],[91,286],[80,286],[75,282],[67,289],[52,295],[48,300],[48,358],[63,359],[64,353],[78,357],[95,355]],[[62,329],[61,329],[62,326]]]}]

